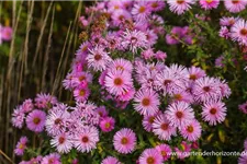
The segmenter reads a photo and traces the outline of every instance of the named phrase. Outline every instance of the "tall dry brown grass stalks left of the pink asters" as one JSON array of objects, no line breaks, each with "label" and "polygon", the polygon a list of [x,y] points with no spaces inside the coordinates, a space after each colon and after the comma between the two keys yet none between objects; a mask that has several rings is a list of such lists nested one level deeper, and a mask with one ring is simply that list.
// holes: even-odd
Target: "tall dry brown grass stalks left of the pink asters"
[{"label": "tall dry brown grass stalks left of the pink asters", "polygon": [[[12,5],[13,39],[10,43],[8,62],[4,68],[1,67],[3,71],[0,75],[0,163],[14,163],[16,156],[13,154],[13,149],[23,132],[11,126],[13,108],[24,98],[34,97],[36,92],[49,91],[53,95],[61,97],[61,80],[68,71],[70,65],[68,61],[71,60],[77,47],[78,17],[82,8],[80,0],[75,17],[71,17],[74,21],[70,21],[67,28],[66,37],[60,38],[65,42],[64,47],[59,48],[60,55],[58,56],[53,50],[56,3],[53,0],[49,2],[13,0],[9,3]],[[42,13],[37,17],[34,15],[34,11],[40,4],[42,4]],[[4,4],[1,1],[0,7],[2,5]],[[25,22],[22,21],[23,13],[27,15]],[[32,28],[37,20],[42,22],[40,34],[32,36],[34,35]],[[22,45],[18,45],[15,39],[19,36],[20,27],[23,26],[25,26],[25,36]],[[29,131],[25,130],[25,132]],[[33,140],[34,142],[31,143],[35,143],[35,139]]]}]

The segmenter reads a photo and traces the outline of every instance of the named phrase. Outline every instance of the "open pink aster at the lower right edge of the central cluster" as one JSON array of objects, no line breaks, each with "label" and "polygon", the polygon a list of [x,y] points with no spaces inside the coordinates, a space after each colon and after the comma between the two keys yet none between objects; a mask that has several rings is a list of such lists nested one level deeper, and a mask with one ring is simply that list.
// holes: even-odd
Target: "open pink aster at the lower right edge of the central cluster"
[{"label": "open pink aster at the lower right edge of the central cluster", "polygon": [[225,120],[226,107],[225,103],[220,101],[210,101],[204,103],[202,108],[203,120],[209,121],[210,125],[215,126]]}]

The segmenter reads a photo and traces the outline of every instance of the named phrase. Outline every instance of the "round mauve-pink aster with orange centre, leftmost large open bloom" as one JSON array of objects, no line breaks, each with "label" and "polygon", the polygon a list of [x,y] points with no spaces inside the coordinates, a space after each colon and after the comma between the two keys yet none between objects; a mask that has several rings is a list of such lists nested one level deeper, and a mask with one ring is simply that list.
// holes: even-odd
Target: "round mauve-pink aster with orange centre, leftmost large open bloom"
[{"label": "round mauve-pink aster with orange centre, leftmost large open bloom", "polygon": [[26,116],[26,126],[34,132],[42,132],[45,127],[46,114],[43,110],[35,109]]}]

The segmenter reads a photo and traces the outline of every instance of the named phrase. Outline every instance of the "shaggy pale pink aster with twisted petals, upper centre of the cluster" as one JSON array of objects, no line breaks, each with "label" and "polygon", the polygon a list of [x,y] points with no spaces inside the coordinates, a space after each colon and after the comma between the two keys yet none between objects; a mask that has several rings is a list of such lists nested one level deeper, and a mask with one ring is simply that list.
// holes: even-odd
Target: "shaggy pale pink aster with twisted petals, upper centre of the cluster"
[{"label": "shaggy pale pink aster with twisted petals, upper centre of the cluster", "polygon": [[123,33],[123,42],[121,43],[124,49],[130,49],[133,54],[137,52],[137,48],[147,48],[146,34],[141,31],[128,31]]}]

